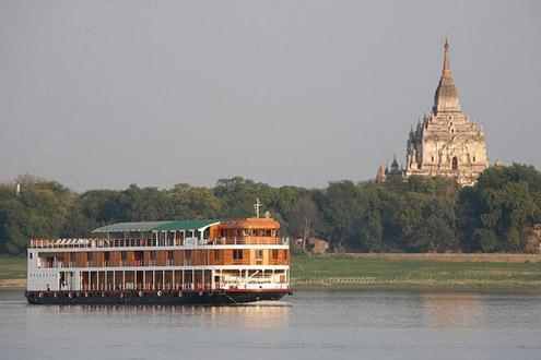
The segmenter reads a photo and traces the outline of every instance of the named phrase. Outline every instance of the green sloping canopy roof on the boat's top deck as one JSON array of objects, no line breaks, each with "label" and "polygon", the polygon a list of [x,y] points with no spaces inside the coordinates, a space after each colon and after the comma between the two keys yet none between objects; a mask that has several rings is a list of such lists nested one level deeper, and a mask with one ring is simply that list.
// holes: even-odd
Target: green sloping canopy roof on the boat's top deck
[{"label": "green sloping canopy roof on the boat's top deck", "polygon": [[216,223],[220,223],[220,219],[117,223],[94,229],[92,232],[198,230]]}]

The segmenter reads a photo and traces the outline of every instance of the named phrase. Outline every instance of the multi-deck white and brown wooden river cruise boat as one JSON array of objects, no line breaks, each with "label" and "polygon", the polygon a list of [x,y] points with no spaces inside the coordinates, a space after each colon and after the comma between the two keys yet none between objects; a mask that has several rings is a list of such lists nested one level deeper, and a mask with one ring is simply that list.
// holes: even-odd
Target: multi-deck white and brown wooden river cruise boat
[{"label": "multi-deck white and brown wooden river cruise boat", "polygon": [[120,223],[89,239],[30,241],[33,304],[227,304],[291,293],[272,218]]}]

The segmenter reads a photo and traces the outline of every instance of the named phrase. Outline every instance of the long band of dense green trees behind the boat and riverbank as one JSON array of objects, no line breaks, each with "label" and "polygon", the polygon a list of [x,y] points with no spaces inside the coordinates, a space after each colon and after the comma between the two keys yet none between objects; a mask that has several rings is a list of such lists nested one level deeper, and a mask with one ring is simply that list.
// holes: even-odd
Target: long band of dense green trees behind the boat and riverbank
[{"label": "long band of dense green trees behind the boat and riverbank", "polygon": [[0,254],[23,255],[31,238],[82,238],[113,223],[247,217],[257,197],[280,221],[281,236],[324,239],[333,252],[540,249],[541,173],[515,164],[491,167],[466,188],[452,179],[419,177],[275,188],[234,177],[212,188],[132,184],[75,193],[23,176],[0,184]]}]

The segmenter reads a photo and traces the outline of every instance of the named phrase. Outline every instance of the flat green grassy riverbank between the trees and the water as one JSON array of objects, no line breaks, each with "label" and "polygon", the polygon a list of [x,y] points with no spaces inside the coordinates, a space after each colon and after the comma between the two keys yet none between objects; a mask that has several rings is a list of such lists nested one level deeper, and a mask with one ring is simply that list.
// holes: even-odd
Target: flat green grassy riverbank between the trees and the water
[{"label": "flat green grassy riverbank between the trees and the water", "polygon": [[[499,288],[541,291],[540,254],[296,254],[294,289]],[[26,260],[0,257],[0,288],[24,288]]]}]

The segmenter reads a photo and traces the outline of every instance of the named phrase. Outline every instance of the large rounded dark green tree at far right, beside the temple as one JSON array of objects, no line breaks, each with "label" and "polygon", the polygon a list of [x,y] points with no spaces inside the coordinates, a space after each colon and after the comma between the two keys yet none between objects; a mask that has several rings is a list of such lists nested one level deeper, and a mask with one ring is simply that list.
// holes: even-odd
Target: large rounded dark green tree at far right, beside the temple
[{"label": "large rounded dark green tree at far right, beside the temple", "polygon": [[472,251],[525,251],[529,230],[541,221],[541,173],[533,167],[492,167],[464,190],[459,230]]}]

